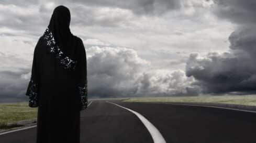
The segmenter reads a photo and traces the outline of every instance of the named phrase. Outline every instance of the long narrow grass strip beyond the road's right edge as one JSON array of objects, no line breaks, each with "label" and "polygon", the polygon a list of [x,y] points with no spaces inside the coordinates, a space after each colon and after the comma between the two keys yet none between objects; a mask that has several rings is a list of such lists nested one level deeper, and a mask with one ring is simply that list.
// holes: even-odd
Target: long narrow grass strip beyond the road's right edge
[{"label": "long narrow grass strip beyond the road's right edge", "polygon": [[123,101],[126,101],[126,102],[206,102],[206,103],[230,103],[230,104],[238,104],[238,105],[256,106],[256,95],[131,97]]}]

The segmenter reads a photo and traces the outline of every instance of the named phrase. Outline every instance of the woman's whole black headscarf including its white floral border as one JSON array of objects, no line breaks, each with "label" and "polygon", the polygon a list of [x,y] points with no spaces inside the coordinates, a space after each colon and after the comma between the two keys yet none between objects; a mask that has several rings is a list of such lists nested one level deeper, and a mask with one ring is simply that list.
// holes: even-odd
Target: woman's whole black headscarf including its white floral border
[{"label": "woman's whole black headscarf including its white floral border", "polygon": [[75,36],[70,28],[70,11],[64,6],[53,10],[48,28],[43,34],[48,53],[54,54],[64,69],[75,69]]}]

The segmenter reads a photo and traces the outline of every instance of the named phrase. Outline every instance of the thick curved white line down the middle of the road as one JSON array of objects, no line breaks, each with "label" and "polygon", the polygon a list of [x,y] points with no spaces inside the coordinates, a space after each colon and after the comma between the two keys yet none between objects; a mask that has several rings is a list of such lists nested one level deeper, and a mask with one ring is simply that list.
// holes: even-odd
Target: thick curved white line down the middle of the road
[{"label": "thick curved white line down the middle of the road", "polygon": [[[109,102],[109,101],[106,101],[106,102]],[[118,107],[124,108],[124,109],[132,112],[136,116],[138,116],[140,121],[147,127],[147,129],[148,129],[148,131],[149,131],[149,133],[150,133],[154,143],[165,143],[166,142],[164,140],[162,134],[158,131],[158,129],[152,123],[150,123],[146,118],[144,118],[143,115],[141,115],[140,113],[138,113],[136,111],[133,111],[133,110],[131,110],[129,108],[117,105],[116,103],[113,103],[113,102],[109,102],[109,103],[112,103],[113,105],[116,105]]]}]

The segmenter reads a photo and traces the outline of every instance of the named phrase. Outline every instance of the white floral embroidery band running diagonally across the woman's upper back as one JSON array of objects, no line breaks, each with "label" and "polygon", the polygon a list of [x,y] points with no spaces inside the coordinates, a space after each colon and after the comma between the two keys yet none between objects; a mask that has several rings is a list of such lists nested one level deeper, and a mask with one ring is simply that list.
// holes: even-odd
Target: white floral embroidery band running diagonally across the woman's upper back
[{"label": "white floral embroidery band running diagonally across the woman's upper back", "polygon": [[55,58],[59,60],[60,64],[63,66],[64,69],[75,69],[77,61],[72,60],[71,58],[63,54],[63,51],[56,44],[53,34],[51,33],[49,28],[47,28],[44,32],[43,39],[46,41],[46,45],[48,46],[48,52],[54,54]]}]

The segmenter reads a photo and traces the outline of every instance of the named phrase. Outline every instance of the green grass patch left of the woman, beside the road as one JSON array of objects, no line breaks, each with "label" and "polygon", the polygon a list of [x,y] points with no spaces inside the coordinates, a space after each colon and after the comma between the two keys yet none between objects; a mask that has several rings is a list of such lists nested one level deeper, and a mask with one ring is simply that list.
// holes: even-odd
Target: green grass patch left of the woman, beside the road
[{"label": "green grass patch left of the woman, beside the road", "polygon": [[37,108],[29,107],[28,102],[0,103],[0,129],[15,126],[7,123],[32,118],[37,118]]}]

